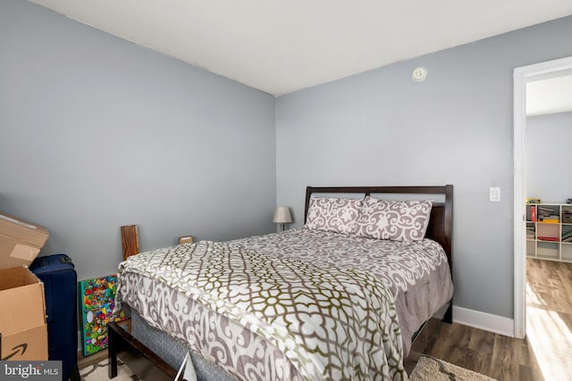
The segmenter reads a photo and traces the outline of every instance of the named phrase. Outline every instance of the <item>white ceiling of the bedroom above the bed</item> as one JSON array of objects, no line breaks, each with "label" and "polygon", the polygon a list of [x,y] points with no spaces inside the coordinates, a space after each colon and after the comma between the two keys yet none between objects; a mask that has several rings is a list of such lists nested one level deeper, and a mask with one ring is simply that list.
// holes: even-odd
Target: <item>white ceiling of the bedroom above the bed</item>
[{"label": "white ceiling of the bedroom above the bed", "polygon": [[570,0],[29,0],[268,94],[572,14]]}]

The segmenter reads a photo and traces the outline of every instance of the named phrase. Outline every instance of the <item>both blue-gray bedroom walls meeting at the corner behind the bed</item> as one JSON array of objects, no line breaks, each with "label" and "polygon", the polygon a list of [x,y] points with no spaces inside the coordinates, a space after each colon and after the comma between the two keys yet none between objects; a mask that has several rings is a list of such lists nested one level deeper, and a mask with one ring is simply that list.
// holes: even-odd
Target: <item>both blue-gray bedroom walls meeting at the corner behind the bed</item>
[{"label": "both blue-gray bedroom walls meeting at the corner behind the bed", "polygon": [[551,21],[274,101],[4,0],[0,211],[92,277],[114,271],[121,225],[148,250],[273,231],[275,201],[299,226],[307,185],[453,184],[455,303],[512,318],[512,73],[572,55],[571,35]]}]

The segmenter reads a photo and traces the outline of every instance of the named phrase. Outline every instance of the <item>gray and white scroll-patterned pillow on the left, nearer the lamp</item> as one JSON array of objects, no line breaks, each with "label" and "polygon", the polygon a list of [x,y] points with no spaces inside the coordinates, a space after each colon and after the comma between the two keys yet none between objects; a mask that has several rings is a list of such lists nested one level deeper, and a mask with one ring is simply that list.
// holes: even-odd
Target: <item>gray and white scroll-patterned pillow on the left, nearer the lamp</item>
[{"label": "gray and white scroll-patterned pillow on the left, nearer the lamp", "polygon": [[353,234],[362,203],[362,200],[311,197],[306,228]]}]

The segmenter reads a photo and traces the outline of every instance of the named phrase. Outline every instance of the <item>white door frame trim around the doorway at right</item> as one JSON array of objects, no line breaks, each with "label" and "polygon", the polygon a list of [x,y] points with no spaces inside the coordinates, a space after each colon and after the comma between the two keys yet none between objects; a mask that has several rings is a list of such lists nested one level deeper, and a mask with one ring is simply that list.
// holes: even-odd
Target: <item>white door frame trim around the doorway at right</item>
[{"label": "white door frame trim around the doorway at right", "polygon": [[561,70],[572,70],[572,57],[514,70],[514,325],[515,337],[521,339],[526,335],[526,81]]}]

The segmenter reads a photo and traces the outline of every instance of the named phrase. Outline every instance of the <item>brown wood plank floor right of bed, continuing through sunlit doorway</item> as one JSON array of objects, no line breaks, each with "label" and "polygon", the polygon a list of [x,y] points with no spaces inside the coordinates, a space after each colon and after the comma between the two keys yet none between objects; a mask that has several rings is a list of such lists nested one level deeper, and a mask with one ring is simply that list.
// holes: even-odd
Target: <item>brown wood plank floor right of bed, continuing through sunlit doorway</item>
[{"label": "brown wood plank floor right of bed, continuing through sunlit doorway", "polygon": [[499,381],[572,380],[572,263],[526,261],[525,340],[433,321],[433,335],[413,347]]}]

